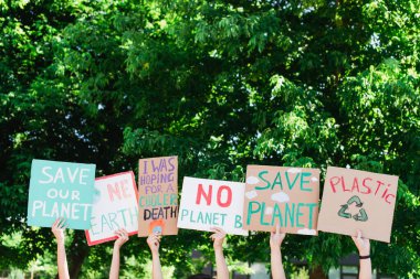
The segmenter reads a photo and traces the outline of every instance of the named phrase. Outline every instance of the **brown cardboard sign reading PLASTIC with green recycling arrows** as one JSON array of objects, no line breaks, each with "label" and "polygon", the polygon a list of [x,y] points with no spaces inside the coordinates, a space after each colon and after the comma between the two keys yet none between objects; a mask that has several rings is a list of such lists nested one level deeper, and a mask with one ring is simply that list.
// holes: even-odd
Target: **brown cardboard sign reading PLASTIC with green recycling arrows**
[{"label": "brown cardboard sign reading PLASTIC with green recycling arrows", "polygon": [[328,167],[318,229],[389,243],[398,176]]}]

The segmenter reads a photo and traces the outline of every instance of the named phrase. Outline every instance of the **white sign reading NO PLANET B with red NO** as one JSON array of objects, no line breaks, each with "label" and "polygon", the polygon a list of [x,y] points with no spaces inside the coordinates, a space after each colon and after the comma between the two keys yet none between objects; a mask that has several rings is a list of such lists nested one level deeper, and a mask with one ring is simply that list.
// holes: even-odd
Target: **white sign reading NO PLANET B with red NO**
[{"label": "white sign reading NO PLANET B with red NO", "polygon": [[185,176],[178,227],[248,235],[242,228],[244,190],[244,183]]}]

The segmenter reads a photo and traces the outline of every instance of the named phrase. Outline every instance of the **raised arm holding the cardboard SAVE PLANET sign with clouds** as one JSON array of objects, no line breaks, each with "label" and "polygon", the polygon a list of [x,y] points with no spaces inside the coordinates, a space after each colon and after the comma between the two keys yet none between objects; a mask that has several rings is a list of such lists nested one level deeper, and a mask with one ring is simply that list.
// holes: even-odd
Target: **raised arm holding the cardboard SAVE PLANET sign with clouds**
[{"label": "raised arm holding the cardboard SAVE PLANET sign with clouds", "polygon": [[275,233],[271,233],[270,236],[270,249],[271,249],[271,275],[273,279],[286,279],[283,269],[281,246],[286,234],[280,233],[280,226],[275,226]]}]

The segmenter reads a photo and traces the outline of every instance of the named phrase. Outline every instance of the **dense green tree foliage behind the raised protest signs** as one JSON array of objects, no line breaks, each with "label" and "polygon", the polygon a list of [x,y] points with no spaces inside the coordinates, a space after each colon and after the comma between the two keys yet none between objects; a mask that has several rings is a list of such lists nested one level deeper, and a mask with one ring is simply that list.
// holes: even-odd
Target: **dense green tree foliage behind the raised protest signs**
[{"label": "dense green tree foliage behind the raised protest signs", "polygon": [[[243,181],[250,163],[399,175],[391,244],[374,243],[372,262],[420,276],[419,9],[418,0],[0,1],[0,266],[49,266],[55,253],[51,232],[24,222],[31,159],[96,163],[104,175],[177,154],[179,182]],[[233,268],[269,260],[266,234],[228,240]],[[112,244],[87,248],[83,232],[69,242],[71,266],[82,267],[74,276],[106,277]],[[165,237],[162,250],[175,278],[213,260],[208,235],[193,230]],[[355,247],[321,233],[288,235],[284,250],[288,270],[291,258],[327,270]],[[123,254],[122,275],[145,276],[144,239]]]}]

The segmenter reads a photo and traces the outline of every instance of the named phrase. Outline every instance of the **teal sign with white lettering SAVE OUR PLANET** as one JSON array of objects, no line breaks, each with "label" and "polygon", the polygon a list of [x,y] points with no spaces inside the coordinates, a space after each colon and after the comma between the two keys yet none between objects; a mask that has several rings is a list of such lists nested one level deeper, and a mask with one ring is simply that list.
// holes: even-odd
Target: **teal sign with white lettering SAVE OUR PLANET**
[{"label": "teal sign with white lettering SAVE OUR PLANET", "polygon": [[95,169],[95,164],[32,160],[28,225],[52,227],[63,217],[69,228],[88,229]]}]

